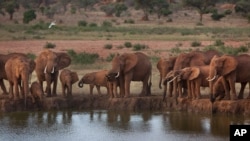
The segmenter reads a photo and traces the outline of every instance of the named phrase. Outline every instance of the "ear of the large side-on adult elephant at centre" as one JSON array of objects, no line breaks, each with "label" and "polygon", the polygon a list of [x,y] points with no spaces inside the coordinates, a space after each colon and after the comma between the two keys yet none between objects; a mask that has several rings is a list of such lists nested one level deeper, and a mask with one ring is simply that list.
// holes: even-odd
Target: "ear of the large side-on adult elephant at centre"
[{"label": "ear of the large side-on adult elephant at centre", "polygon": [[129,72],[135,67],[138,62],[138,57],[134,53],[124,53],[121,57],[124,57],[124,72]]}]

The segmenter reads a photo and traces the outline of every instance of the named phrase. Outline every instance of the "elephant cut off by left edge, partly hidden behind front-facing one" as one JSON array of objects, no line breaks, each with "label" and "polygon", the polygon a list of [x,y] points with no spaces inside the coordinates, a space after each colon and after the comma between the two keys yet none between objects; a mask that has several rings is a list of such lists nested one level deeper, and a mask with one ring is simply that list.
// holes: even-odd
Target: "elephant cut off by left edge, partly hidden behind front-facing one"
[{"label": "elephant cut off by left edge, partly hidden behind front-facing one", "polygon": [[14,56],[26,57],[26,55],[23,53],[0,54],[0,86],[3,91],[3,94],[8,94],[6,87],[4,85],[4,81],[3,81],[4,79],[7,80],[7,75],[5,72],[5,64],[9,58],[14,57]]}]

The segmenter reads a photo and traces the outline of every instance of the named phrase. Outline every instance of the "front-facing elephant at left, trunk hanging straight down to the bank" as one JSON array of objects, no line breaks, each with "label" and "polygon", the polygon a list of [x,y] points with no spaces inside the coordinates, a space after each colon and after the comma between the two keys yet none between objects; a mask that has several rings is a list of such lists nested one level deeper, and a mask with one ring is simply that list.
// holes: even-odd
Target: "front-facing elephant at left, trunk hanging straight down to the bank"
[{"label": "front-facing elephant at left, trunk hanging straight down to the bank", "polygon": [[29,76],[35,69],[35,66],[35,62],[25,56],[13,56],[8,59],[5,64],[5,71],[10,86],[10,98],[18,100],[20,88],[26,104],[26,98],[29,95]]}]

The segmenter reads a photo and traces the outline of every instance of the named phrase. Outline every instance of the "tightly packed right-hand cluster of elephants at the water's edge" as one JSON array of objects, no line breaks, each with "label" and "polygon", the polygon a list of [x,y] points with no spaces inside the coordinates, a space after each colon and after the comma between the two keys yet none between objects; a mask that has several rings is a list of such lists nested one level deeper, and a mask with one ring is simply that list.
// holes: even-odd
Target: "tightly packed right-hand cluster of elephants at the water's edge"
[{"label": "tightly packed right-hand cluster of elephants at the water's edge", "polygon": [[[159,87],[164,84],[163,99],[167,91],[168,96],[177,98],[186,95],[190,99],[199,99],[200,87],[209,87],[211,102],[243,99],[245,86],[250,82],[250,56],[247,54],[233,56],[215,50],[192,51],[162,58],[157,68],[161,76]],[[241,83],[238,96],[235,83]],[[250,92],[247,98],[250,98]]]}]

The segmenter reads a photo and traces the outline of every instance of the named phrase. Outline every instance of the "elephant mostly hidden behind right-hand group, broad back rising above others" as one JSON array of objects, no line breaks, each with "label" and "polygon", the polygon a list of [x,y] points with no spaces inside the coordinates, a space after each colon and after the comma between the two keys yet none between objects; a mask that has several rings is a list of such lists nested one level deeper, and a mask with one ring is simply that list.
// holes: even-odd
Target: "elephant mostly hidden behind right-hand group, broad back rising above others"
[{"label": "elephant mostly hidden behind right-hand group, broad back rising above others", "polygon": [[[209,65],[214,55],[220,55],[220,53],[215,50],[208,50],[205,52],[192,51],[189,53],[182,53],[178,55],[178,57],[176,58],[173,70],[177,71],[185,67]],[[173,83],[174,83],[173,84],[174,96],[177,97],[177,91],[178,91],[179,97],[182,97],[182,86],[181,86],[182,83],[177,83],[177,80],[174,80]],[[187,84],[189,85],[189,83]],[[187,87],[190,87],[190,86],[187,86]]]}]

